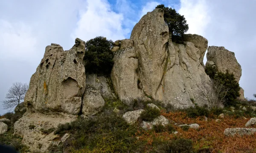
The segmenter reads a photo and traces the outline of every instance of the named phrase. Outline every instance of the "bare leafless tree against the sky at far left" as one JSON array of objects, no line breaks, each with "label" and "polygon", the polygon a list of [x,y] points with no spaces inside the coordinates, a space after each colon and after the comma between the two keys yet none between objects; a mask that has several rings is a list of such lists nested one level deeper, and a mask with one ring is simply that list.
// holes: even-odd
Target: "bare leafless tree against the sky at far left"
[{"label": "bare leafless tree against the sky at far left", "polygon": [[12,110],[14,107],[18,106],[20,111],[20,103],[23,102],[28,89],[29,85],[26,83],[13,83],[12,87],[9,88],[8,93],[6,94],[6,100],[2,101],[3,109]]}]

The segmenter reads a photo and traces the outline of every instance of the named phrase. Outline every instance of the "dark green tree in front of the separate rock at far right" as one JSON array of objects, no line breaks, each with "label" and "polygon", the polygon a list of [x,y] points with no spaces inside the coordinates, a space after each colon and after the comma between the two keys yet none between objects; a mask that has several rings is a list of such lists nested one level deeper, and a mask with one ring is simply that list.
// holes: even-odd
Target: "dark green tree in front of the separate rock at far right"
[{"label": "dark green tree in front of the separate rock at far right", "polygon": [[226,73],[217,72],[214,76],[213,80],[219,81],[221,84],[226,87],[227,95],[225,96],[226,106],[231,106],[236,104],[236,98],[240,96],[239,90],[239,83],[236,81],[236,78],[233,73],[230,73],[228,70]]}]

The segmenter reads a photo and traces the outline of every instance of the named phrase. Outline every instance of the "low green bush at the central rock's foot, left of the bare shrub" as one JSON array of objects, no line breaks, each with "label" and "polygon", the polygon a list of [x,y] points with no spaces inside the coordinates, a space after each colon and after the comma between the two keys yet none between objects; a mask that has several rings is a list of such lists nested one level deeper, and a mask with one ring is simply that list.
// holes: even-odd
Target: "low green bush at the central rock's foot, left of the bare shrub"
[{"label": "low green bush at the central rock's foot, left of the bare shrub", "polygon": [[199,107],[199,106],[195,106],[195,107],[189,107],[187,109],[184,110],[188,117],[191,118],[197,118],[199,116],[209,116],[209,110],[207,109],[207,107]]}]

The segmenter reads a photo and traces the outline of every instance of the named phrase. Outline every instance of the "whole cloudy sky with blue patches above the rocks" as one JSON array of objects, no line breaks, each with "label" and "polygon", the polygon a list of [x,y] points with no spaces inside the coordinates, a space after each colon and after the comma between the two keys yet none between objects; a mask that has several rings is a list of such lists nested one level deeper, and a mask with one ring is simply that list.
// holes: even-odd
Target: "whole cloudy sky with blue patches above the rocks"
[{"label": "whole cloudy sky with blue patches above the rocks", "polygon": [[[130,38],[134,25],[158,4],[184,15],[187,33],[207,38],[208,46],[235,52],[242,67],[239,84],[244,96],[253,98],[256,0],[1,0],[0,101],[12,83],[29,84],[47,45],[58,43],[68,50],[75,38]],[[7,111],[0,104],[0,114]]]}]

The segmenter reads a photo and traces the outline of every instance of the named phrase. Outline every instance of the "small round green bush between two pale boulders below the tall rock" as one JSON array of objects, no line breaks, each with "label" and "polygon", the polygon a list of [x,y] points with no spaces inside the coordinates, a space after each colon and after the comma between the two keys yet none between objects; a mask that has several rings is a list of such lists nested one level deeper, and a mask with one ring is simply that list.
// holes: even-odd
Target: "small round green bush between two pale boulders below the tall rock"
[{"label": "small round green bush between two pale boulders below the tall rock", "polygon": [[157,108],[152,108],[152,107],[148,107],[146,106],[145,111],[143,111],[140,114],[140,119],[142,121],[153,121],[156,117],[160,116],[160,110],[158,110]]}]

